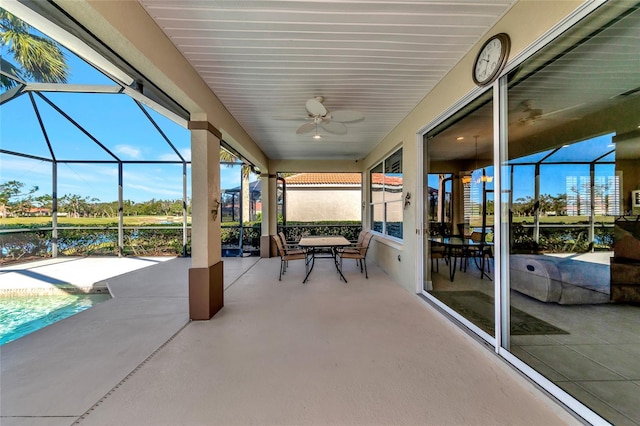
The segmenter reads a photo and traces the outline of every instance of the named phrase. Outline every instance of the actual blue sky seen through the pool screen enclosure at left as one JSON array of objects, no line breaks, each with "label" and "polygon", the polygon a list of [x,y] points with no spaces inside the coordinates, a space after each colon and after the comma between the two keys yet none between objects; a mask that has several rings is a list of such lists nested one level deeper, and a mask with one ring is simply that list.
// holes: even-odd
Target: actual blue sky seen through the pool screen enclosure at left
[{"label": "actual blue sky seen through the pool screen enclosure at left", "polygon": [[[114,84],[92,66],[64,50],[70,66],[70,84]],[[6,48],[2,57],[12,61]],[[135,102],[126,95],[45,93],[55,105],[85,128],[114,155],[122,160],[179,160],[160,133],[148,121]],[[35,96],[36,105],[47,135],[59,160],[111,160],[108,153],[66,120],[46,101]],[[187,129],[144,107],[165,135],[187,160],[191,158],[190,133]],[[51,158],[31,100],[22,95],[0,106],[0,147],[5,150]],[[187,194],[191,196],[188,168]],[[77,194],[115,201],[118,198],[116,164],[60,163],[58,195]],[[182,198],[181,164],[125,164],[124,199],[136,202]],[[240,185],[240,167],[221,168],[222,188]],[[23,182],[26,188],[38,186],[35,194],[50,194],[51,163],[0,154],[0,182]]]}]

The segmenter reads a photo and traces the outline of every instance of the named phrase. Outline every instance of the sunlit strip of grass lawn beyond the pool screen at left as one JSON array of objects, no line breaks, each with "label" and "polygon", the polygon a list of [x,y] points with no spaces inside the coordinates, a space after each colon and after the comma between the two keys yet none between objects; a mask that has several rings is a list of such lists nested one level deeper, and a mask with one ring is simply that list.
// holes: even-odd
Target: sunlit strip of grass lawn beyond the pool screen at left
[{"label": "sunlit strip of grass lawn beyond the pool screen at left", "polygon": [[[191,218],[187,218],[191,224]],[[125,226],[182,225],[181,216],[125,216]],[[50,217],[9,217],[0,218],[0,228],[15,226],[51,226]],[[58,217],[59,226],[118,226],[116,217]]]}]

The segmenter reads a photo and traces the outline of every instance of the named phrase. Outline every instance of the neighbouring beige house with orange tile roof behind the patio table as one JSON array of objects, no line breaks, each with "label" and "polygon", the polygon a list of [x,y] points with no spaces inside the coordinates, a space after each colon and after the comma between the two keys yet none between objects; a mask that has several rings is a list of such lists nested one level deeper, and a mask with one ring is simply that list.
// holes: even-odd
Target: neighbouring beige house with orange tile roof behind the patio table
[{"label": "neighbouring beige house with orange tile roof behind the patio table", "polygon": [[287,221],[362,220],[360,173],[298,173],[284,180]]}]

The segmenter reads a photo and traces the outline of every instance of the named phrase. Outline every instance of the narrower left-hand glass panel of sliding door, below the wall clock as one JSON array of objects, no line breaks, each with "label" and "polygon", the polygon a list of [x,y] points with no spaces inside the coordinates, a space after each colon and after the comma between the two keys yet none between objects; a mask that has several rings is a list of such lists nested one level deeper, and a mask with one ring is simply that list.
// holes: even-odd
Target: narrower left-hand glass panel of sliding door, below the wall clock
[{"label": "narrower left-hand glass panel of sliding door, below the wall clock", "polygon": [[424,291],[495,334],[493,99],[485,92],[425,135]]}]

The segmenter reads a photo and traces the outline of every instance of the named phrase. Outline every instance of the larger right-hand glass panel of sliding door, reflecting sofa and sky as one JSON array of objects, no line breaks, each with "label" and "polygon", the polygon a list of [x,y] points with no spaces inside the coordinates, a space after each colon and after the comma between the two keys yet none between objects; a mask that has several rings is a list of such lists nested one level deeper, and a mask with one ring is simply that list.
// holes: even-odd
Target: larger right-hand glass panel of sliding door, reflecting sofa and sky
[{"label": "larger right-hand glass panel of sliding door, reflecting sofa and sky", "polygon": [[640,9],[607,2],[520,64],[501,147],[502,345],[613,424],[640,424],[638,40]]}]

